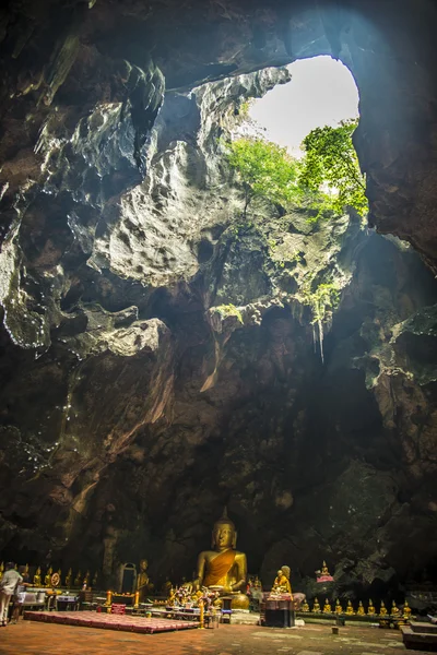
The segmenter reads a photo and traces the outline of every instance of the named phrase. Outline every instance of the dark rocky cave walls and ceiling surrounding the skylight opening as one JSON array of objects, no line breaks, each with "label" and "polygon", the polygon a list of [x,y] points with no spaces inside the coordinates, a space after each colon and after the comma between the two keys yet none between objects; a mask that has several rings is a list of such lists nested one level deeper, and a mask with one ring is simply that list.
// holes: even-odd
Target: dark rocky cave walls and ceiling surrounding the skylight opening
[{"label": "dark rocky cave walls and ceiling surrounding the skylight opening", "polygon": [[[1,559],[108,586],[146,557],[158,588],[226,505],[267,583],[437,584],[436,27],[430,0],[0,14]],[[236,225],[220,140],[320,55],[359,90],[367,229]],[[342,281],[324,361],[308,267]]]}]

